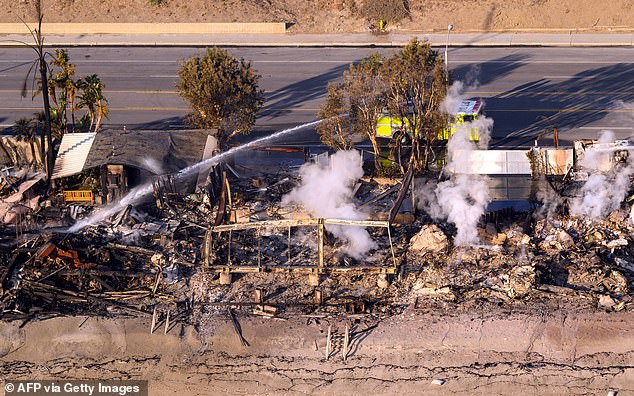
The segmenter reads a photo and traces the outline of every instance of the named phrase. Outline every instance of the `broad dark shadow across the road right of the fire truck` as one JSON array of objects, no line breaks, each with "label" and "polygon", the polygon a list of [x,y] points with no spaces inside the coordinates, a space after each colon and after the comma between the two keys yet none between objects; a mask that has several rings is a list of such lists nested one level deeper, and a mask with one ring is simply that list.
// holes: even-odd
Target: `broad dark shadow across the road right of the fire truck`
[{"label": "broad dark shadow across the road right of the fire truck", "polygon": [[496,145],[528,143],[553,127],[563,132],[560,143],[569,144],[576,138],[566,137],[566,131],[610,113],[616,113],[613,120],[622,120],[623,126],[633,126],[634,113],[625,106],[634,102],[632,70],[634,63],[619,63],[585,70],[564,80],[541,78],[488,98],[487,112],[496,124],[512,125],[497,133],[494,128],[494,137],[498,134],[502,138]]}]

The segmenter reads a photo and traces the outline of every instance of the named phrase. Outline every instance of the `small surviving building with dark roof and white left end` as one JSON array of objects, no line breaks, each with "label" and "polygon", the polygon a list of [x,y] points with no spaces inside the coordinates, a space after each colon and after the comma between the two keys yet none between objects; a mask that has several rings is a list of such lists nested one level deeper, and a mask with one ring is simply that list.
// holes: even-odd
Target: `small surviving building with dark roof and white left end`
[{"label": "small surviving building with dark roof and white left end", "polygon": [[[59,147],[53,179],[98,170],[102,203],[128,190],[210,158],[216,150],[216,130],[106,130],[66,134]],[[94,173],[94,172],[93,172]],[[179,180],[179,192],[193,192],[206,174]]]}]

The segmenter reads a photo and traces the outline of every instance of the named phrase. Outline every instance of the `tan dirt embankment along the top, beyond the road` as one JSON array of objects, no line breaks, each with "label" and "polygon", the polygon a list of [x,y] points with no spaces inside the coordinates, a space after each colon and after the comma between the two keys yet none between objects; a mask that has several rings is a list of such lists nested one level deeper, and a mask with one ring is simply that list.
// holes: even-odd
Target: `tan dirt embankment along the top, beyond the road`
[{"label": "tan dirt embankment along the top, beyond the road", "polygon": [[[0,22],[34,20],[34,0],[0,0]],[[290,32],[368,31],[376,17],[404,7],[388,30],[456,31],[634,29],[634,3],[611,0],[42,0],[47,22],[288,22]],[[399,13],[397,13],[399,14]],[[376,21],[375,21],[376,22]]]}]

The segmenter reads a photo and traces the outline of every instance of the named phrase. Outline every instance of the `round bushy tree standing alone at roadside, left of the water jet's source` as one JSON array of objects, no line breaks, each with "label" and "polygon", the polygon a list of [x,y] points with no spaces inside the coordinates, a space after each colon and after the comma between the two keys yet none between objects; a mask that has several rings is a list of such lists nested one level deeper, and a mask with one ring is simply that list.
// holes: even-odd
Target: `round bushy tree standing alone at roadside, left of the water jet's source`
[{"label": "round bushy tree standing alone at roadside, left of the water jet's source", "polygon": [[223,49],[208,48],[202,56],[181,61],[178,76],[176,88],[192,108],[191,122],[199,128],[217,128],[221,146],[251,131],[264,92],[249,62]]}]

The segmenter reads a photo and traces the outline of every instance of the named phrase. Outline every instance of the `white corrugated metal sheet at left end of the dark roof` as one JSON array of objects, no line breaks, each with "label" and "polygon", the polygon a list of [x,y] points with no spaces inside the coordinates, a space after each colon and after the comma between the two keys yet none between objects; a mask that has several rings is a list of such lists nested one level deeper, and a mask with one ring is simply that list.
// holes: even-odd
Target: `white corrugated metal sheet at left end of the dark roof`
[{"label": "white corrugated metal sheet at left end of the dark roof", "polygon": [[95,135],[95,132],[67,133],[62,137],[53,168],[53,179],[71,176],[84,169]]}]

